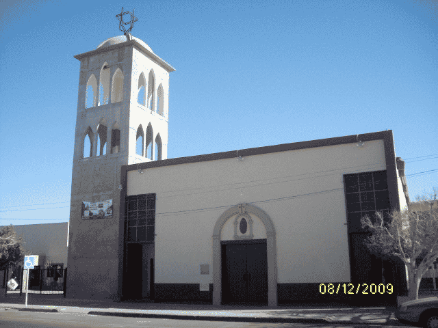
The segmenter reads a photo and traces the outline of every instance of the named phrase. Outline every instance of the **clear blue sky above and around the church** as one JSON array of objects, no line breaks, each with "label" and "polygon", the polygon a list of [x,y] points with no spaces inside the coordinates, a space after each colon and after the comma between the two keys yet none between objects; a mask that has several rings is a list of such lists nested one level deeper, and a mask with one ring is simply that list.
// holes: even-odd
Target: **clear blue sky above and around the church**
[{"label": "clear blue sky above and around the church", "polygon": [[177,69],[168,158],[391,129],[411,199],[438,187],[437,1],[6,0],[0,226],[68,221],[73,55],[123,34],[122,6]]}]

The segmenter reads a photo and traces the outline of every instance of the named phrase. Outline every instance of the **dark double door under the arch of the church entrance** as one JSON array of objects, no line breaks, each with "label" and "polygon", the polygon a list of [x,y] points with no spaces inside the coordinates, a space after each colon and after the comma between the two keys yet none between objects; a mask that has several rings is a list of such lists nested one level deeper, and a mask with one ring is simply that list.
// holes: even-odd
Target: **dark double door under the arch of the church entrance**
[{"label": "dark double door under the arch of the church entrance", "polygon": [[268,303],[266,239],[221,244],[222,303]]}]

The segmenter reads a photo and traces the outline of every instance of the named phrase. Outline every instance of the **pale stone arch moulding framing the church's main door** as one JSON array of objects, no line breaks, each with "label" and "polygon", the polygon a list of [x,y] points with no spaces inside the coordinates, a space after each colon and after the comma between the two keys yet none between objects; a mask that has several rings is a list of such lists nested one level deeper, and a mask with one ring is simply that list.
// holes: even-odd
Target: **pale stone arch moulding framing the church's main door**
[{"label": "pale stone arch moulding framing the church's main door", "polygon": [[240,204],[226,210],[216,221],[213,232],[213,304],[220,305],[222,301],[222,263],[220,235],[227,220],[236,214],[253,214],[257,216],[266,228],[266,255],[268,262],[268,306],[277,306],[277,275],[276,275],[276,234],[274,224],[261,208],[250,204]]}]

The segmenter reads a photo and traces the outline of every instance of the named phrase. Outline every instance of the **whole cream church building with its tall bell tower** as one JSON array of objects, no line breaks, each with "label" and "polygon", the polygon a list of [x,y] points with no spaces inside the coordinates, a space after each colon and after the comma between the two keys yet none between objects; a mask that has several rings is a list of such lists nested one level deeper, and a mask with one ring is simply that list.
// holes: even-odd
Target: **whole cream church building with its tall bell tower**
[{"label": "whole cream church building with its tall bell tower", "polygon": [[275,307],[405,292],[404,266],[370,254],[360,225],[409,201],[392,131],[168,159],[175,68],[131,33],[75,58],[66,297]]}]

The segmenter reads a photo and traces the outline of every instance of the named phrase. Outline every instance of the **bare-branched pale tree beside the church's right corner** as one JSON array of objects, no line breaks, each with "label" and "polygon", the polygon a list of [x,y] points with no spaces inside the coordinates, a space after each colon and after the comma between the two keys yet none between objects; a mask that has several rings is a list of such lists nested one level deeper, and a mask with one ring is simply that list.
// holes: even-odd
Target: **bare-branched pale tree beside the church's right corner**
[{"label": "bare-branched pale tree beside the church's right corner", "polygon": [[437,190],[417,200],[428,209],[395,210],[386,221],[376,212],[374,223],[368,216],[361,218],[362,228],[371,233],[365,239],[368,249],[383,259],[400,258],[406,265],[410,299],[418,299],[422,277],[438,258]]}]

